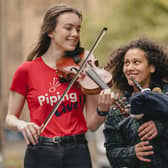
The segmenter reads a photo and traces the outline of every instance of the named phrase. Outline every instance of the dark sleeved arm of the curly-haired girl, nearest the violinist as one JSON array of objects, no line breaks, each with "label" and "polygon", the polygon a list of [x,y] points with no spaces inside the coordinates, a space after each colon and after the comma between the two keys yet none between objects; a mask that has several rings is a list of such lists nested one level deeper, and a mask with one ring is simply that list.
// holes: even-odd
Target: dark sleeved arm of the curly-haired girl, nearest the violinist
[{"label": "dark sleeved arm of the curly-haired girl, nearest the violinist", "polygon": [[[112,114],[114,113],[115,111]],[[129,137],[129,132],[124,134],[124,130],[121,130],[119,126],[118,119],[116,116],[109,115],[105,122],[104,135],[107,156],[114,168],[124,166],[133,168],[136,165],[135,163],[138,162],[135,154],[135,143],[130,142],[130,139],[125,136],[127,133]]]}]

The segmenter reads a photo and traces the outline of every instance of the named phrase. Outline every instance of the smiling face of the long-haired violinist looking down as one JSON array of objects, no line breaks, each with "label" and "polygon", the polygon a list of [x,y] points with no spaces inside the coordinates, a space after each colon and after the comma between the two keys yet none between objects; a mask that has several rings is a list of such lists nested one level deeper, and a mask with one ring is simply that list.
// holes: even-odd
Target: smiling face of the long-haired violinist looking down
[{"label": "smiling face of the long-haired violinist looking down", "polygon": [[56,49],[73,51],[80,39],[81,19],[72,12],[65,12],[58,17],[57,25],[48,36]]}]

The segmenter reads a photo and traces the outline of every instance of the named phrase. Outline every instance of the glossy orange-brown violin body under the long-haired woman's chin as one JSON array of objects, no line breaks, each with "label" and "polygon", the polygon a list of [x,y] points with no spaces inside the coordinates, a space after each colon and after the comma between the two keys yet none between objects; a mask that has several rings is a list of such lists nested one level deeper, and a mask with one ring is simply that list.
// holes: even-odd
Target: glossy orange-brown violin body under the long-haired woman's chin
[{"label": "glossy orange-brown violin body under the long-haired woman's chin", "polygon": [[[80,55],[81,61],[83,61],[85,55],[86,53],[84,52]],[[107,88],[107,86],[104,86],[104,83],[108,87],[112,86],[112,75],[103,68],[99,68],[98,65],[98,60],[89,58],[84,69],[79,74],[77,82],[84,94],[98,94],[102,88]],[[61,57],[57,60],[56,66],[58,76],[67,81],[72,80],[80,68],[79,63],[77,64],[72,57],[68,56]]]}]

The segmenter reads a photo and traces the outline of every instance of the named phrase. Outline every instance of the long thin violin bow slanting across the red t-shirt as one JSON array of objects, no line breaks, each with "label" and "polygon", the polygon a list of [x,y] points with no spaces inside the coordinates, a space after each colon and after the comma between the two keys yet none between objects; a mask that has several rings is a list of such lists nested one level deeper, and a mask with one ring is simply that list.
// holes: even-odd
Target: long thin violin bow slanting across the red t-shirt
[{"label": "long thin violin bow slanting across the red t-shirt", "polygon": [[51,110],[51,112],[49,113],[49,115],[47,116],[47,118],[45,119],[45,121],[43,122],[43,124],[41,125],[40,129],[41,129],[41,133],[44,131],[44,129],[46,128],[46,126],[48,125],[48,123],[50,122],[51,118],[53,117],[54,113],[56,112],[56,110],[58,109],[59,105],[61,104],[63,98],[65,97],[65,95],[68,93],[68,91],[70,90],[70,88],[72,87],[72,85],[75,83],[75,81],[78,78],[78,75],[82,72],[84,66],[87,63],[87,60],[89,58],[89,56],[94,52],[95,48],[97,47],[97,45],[99,44],[99,42],[101,41],[101,39],[103,38],[103,36],[105,35],[107,31],[107,28],[104,27],[100,34],[98,35],[94,45],[92,46],[92,48],[90,49],[88,55],[86,56],[86,58],[84,59],[83,63],[81,64],[79,70],[77,71],[77,73],[75,74],[75,76],[73,77],[73,79],[70,81],[67,89],[65,90],[65,92],[62,94],[62,96],[60,97],[59,101],[55,104],[54,108]]}]

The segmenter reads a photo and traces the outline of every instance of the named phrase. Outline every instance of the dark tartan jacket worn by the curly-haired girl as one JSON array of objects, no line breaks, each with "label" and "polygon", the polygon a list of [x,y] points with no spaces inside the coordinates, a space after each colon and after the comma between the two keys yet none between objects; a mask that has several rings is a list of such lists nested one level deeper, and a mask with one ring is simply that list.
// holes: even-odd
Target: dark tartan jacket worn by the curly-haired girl
[{"label": "dark tartan jacket worn by the curly-haired girl", "polygon": [[[168,92],[168,85],[163,87],[163,92]],[[129,99],[125,100],[124,104],[127,106]],[[164,154],[166,155],[167,153],[168,155],[168,131],[166,131],[165,128],[165,121],[154,121],[159,134],[157,138],[150,141],[154,146],[154,155],[148,156],[148,158],[150,158],[152,162],[147,163],[137,159],[134,146],[140,142],[137,129],[143,122],[143,120],[137,121],[131,117],[126,118],[124,115],[121,115],[118,107],[115,105],[111,106],[103,132],[105,136],[106,154],[113,168],[168,167],[168,160],[164,157]]]}]

